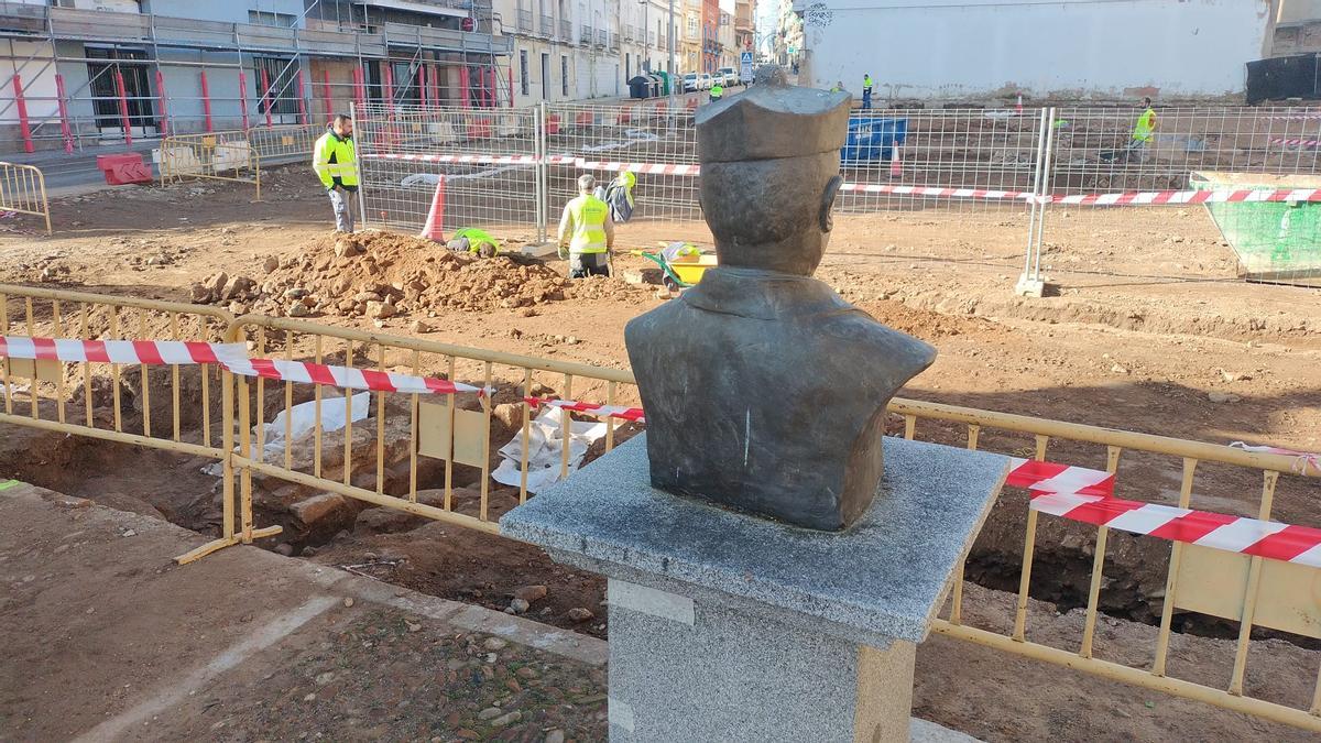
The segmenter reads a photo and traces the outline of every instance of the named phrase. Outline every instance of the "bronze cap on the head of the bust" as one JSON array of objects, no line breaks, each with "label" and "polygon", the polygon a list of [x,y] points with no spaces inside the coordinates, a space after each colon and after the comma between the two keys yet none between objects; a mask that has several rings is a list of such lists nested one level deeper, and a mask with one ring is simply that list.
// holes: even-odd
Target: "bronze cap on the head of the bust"
[{"label": "bronze cap on the head of the bust", "polygon": [[738,163],[831,152],[848,136],[848,93],[791,86],[785,70],[764,65],[756,81],[697,110],[697,160]]}]

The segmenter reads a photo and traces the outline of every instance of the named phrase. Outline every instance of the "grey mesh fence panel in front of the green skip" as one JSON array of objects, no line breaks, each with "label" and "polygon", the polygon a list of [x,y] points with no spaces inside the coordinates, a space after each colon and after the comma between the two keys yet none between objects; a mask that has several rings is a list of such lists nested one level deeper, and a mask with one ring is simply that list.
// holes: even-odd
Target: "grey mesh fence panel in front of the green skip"
[{"label": "grey mesh fence panel in front of the green skip", "polygon": [[1053,111],[1055,268],[1094,258],[1079,233],[1143,223],[1185,231],[1188,262],[1225,258],[1229,247],[1238,275],[1321,286],[1321,114],[1157,108],[1155,132],[1139,137],[1139,110]]}]

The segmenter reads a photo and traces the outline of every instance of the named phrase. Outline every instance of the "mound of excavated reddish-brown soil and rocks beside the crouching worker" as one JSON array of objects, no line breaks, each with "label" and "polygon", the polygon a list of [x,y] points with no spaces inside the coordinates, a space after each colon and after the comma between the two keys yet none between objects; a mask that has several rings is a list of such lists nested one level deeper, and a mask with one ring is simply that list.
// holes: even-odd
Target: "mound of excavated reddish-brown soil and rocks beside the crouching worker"
[{"label": "mound of excavated reddish-brown soil and rocks beside the crouching worker", "polygon": [[390,233],[318,238],[300,256],[271,258],[264,268],[263,282],[214,276],[194,287],[194,299],[252,303],[251,311],[277,316],[384,319],[432,308],[483,312],[646,296],[617,279],[569,282],[522,255],[458,255],[431,241]]}]

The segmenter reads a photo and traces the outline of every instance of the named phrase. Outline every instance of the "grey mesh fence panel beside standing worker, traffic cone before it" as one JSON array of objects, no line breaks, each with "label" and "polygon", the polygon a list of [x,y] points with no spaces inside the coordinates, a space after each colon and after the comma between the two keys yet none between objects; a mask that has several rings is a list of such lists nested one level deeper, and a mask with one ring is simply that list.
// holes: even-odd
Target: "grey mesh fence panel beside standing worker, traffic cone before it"
[{"label": "grey mesh fence panel beside standing worker, traffic cone before it", "polygon": [[535,108],[369,103],[354,127],[367,225],[416,231],[433,205],[446,234],[538,223]]}]

